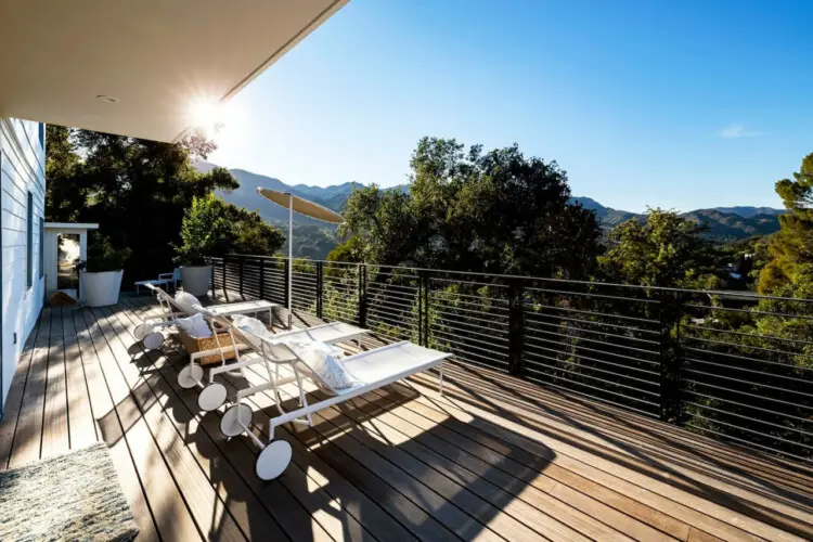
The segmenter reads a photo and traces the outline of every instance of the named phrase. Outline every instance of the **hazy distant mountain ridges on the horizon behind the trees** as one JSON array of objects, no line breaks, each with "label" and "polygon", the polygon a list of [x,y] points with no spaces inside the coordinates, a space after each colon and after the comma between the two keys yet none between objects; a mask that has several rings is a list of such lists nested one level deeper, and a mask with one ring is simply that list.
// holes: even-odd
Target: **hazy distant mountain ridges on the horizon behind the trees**
[{"label": "hazy distant mountain ridges on the horizon behind the trees", "polygon": [[[195,167],[201,171],[208,171],[215,165],[207,162],[198,162]],[[352,191],[362,185],[357,182],[346,182],[331,186],[308,186],[306,184],[285,184],[280,179],[253,173],[244,169],[232,169],[232,175],[240,181],[240,189],[225,193],[218,192],[218,195],[227,202],[233,203],[246,209],[257,210],[269,222],[280,224],[283,229],[287,227],[287,210],[279,205],[272,204],[257,194],[258,186],[264,186],[282,192],[293,192],[301,197],[308,198],[320,205],[334,210],[340,210]],[[405,191],[408,185],[398,185],[393,190]],[[596,217],[606,229],[610,229],[621,222],[634,218],[641,218],[643,215],[630,212],[627,210],[605,207],[591,197],[571,197],[571,202],[581,204],[584,208],[595,211]],[[779,229],[778,216],[783,214],[782,209],[772,207],[714,207],[711,209],[696,209],[683,212],[681,216],[691,218],[698,222],[706,223],[709,227],[709,237],[720,241],[734,241],[747,238],[753,235],[766,235],[776,232]],[[311,256],[323,258],[334,244],[333,231],[335,227],[319,222],[317,220],[294,215],[295,225],[309,225],[302,230],[302,233],[309,237],[309,246],[313,248]],[[323,232],[323,234],[320,233]],[[322,238],[324,236],[324,238]]]}]

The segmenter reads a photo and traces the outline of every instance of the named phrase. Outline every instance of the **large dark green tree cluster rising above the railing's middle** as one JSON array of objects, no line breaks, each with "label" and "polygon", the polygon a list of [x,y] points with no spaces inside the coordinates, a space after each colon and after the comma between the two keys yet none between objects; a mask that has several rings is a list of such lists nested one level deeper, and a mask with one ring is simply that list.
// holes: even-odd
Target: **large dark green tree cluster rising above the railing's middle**
[{"label": "large dark green tree cluster rising above the railing's middle", "polygon": [[[568,203],[556,163],[517,145],[485,153],[424,138],[412,155],[409,191],[366,186],[345,206],[341,236],[354,258],[493,273],[588,276],[601,231],[592,211]],[[344,250],[344,249],[343,249]],[[347,254],[347,251],[346,251]]]}]

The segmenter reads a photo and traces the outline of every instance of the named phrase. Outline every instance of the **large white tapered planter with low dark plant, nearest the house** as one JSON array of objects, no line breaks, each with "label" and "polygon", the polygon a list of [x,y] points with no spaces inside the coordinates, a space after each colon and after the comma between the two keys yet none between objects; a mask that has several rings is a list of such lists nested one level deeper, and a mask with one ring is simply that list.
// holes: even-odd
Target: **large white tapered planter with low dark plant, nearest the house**
[{"label": "large white tapered planter with low dark plant, nearest the house", "polygon": [[88,245],[88,259],[81,270],[81,293],[88,307],[106,307],[118,302],[125,261],[129,248],[115,248],[103,235],[92,235]]}]

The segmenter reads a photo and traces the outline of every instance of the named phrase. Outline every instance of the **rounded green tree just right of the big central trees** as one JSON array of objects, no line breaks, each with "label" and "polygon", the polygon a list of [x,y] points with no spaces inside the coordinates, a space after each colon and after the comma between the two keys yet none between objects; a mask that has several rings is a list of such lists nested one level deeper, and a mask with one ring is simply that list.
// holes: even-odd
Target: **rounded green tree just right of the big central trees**
[{"label": "rounded green tree just right of the big central trees", "polygon": [[705,227],[676,212],[649,209],[609,233],[610,247],[598,257],[602,278],[645,286],[701,286],[712,279],[712,248]]}]

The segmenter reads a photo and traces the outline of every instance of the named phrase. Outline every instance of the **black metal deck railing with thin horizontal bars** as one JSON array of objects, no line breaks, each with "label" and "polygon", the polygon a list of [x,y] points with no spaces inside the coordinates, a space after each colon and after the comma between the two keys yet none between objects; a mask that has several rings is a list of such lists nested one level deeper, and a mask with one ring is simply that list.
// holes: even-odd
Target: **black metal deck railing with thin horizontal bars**
[{"label": "black metal deck railing with thin horizontal bars", "polygon": [[[287,306],[286,259],[235,255],[211,264],[212,288],[227,299]],[[813,301],[334,261],[293,266],[293,311],[306,323],[354,323],[813,461]]]}]

